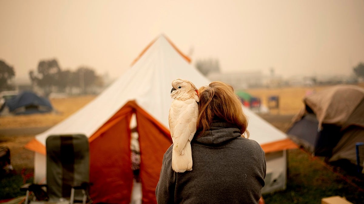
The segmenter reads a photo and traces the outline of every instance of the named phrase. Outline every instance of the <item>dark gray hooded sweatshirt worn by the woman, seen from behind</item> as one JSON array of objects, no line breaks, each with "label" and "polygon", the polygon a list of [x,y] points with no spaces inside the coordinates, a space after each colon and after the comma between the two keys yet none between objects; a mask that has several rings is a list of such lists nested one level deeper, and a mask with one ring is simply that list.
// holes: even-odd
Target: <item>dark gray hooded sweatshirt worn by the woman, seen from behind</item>
[{"label": "dark gray hooded sweatshirt worn by the woman, seen from behind", "polygon": [[258,203],[265,154],[256,141],[242,138],[236,126],[215,121],[194,138],[191,171],[173,171],[172,147],[163,156],[157,203]]}]

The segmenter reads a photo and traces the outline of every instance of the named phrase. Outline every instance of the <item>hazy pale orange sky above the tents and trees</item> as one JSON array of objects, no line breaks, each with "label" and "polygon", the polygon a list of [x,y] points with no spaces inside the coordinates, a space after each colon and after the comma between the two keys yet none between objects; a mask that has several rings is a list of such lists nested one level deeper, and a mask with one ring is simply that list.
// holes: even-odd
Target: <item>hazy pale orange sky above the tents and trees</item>
[{"label": "hazy pale orange sky above the tents and trees", "polygon": [[222,72],[349,75],[364,62],[363,0],[1,0],[0,25],[16,78],[51,58],[117,77],[161,33]]}]

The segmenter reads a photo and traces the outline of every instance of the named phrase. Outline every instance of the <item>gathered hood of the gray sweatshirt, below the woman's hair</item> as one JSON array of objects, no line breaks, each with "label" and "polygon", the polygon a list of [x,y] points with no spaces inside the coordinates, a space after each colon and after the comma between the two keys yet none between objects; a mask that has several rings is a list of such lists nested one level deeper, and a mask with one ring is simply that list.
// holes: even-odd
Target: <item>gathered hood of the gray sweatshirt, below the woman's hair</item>
[{"label": "gathered hood of the gray sweatshirt, below the woman's hair", "polygon": [[211,124],[210,130],[203,132],[200,136],[194,138],[192,142],[209,145],[220,144],[240,136],[240,129],[236,125],[227,122],[214,121]]}]

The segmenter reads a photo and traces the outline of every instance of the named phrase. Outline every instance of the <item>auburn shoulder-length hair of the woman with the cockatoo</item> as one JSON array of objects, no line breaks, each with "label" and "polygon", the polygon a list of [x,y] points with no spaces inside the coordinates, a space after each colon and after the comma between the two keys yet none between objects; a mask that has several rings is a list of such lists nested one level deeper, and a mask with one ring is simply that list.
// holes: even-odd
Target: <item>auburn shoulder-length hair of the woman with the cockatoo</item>
[{"label": "auburn shoulder-length hair of the woman with the cockatoo", "polygon": [[[249,138],[248,118],[243,113],[239,97],[234,93],[232,86],[215,81],[209,86],[198,89],[200,101],[198,104],[197,132],[210,130],[213,118],[220,118],[236,125],[242,137]],[[198,135],[198,136],[199,136]]]}]

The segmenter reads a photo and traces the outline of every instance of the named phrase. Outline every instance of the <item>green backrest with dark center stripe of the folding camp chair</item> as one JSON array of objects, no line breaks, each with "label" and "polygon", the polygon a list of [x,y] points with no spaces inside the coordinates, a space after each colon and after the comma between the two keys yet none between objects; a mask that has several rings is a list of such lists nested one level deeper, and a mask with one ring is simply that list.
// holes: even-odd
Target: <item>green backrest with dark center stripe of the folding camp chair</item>
[{"label": "green backrest with dark center stripe of the folding camp chair", "polygon": [[[88,138],[82,134],[50,135],[46,140],[47,192],[50,201],[69,199],[71,187],[90,180]],[[75,198],[81,195],[75,194]]]}]

